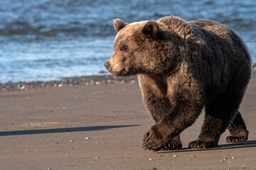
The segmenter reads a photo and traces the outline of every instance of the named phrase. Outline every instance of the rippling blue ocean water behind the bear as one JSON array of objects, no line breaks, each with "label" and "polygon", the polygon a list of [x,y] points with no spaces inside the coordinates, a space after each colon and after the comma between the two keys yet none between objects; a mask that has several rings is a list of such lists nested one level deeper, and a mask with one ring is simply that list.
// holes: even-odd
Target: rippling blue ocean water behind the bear
[{"label": "rippling blue ocean water behind the bear", "polygon": [[256,62],[255,0],[1,0],[0,83],[48,81],[106,71],[116,31],[127,23],[179,16],[224,23]]}]

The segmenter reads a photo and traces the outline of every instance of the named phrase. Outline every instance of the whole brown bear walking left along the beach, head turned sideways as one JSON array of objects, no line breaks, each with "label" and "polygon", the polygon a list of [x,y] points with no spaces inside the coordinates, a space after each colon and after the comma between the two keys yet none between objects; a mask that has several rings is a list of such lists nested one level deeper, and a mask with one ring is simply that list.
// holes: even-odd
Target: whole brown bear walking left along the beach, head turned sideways
[{"label": "whole brown bear walking left along the beach, head turned sideways", "polygon": [[233,30],[176,16],[129,24],[115,19],[114,28],[114,55],[105,67],[116,76],[138,74],[144,104],[156,122],[144,135],[145,149],[181,149],[180,133],[203,108],[201,134],[189,148],[218,147],[226,128],[226,142],[247,140],[238,108],[252,64]]}]

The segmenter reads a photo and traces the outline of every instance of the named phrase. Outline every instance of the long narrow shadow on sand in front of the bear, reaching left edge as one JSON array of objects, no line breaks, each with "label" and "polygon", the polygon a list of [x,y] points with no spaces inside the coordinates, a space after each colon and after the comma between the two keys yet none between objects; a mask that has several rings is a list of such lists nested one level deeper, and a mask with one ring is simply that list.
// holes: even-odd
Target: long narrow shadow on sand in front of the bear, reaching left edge
[{"label": "long narrow shadow on sand in front of the bear, reaching left edge", "polygon": [[0,132],[0,136],[12,136],[12,135],[36,135],[47,133],[59,133],[59,132],[85,132],[95,130],[107,130],[114,128],[127,128],[136,127],[139,125],[110,125],[110,126],[88,126],[88,127],[76,127],[76,128],[56,128],[56,129],[43,129],[43,130],[17,130]]}]

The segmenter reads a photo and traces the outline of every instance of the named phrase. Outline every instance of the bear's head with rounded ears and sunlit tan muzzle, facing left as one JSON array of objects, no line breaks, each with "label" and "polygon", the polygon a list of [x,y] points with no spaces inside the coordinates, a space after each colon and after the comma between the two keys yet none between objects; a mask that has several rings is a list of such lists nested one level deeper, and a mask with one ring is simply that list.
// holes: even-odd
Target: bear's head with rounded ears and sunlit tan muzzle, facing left
[{"label": "bear's head with rounded ears and sunlit tan muzzle, facing left", "polygon": [[114,20],[117,36],[114,55],[105,62],[108,72],[116,76],[165,74],[173,69],[177,47],[170,35],[156,21],[124,23]]}]

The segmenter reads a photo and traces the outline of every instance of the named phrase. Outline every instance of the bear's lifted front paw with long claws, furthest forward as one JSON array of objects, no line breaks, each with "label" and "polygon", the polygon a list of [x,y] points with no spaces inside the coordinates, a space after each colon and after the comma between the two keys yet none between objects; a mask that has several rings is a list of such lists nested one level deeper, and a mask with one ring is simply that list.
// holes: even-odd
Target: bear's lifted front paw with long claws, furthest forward
[{"label": "bear's lifted front paw with long claws, furthest forward", "polygon": [[144,149],[153,150],[155,152],[161,150],[166,146],[166,142],[164,142],[163,135],[161,135],[159,130],[154,126],[150,128],[148,132],[146,132],[142,142],[142,147]]}]

